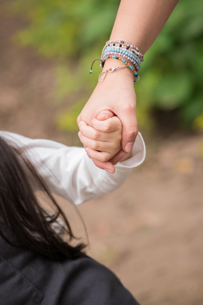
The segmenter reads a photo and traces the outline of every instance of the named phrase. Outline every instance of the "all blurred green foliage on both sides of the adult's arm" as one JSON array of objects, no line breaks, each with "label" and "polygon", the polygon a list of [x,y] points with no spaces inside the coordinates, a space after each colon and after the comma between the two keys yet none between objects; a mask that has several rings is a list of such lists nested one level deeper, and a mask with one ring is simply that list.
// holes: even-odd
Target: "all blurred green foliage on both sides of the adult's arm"
[{"label": "all blurred green foliage on both sides of the adult's arm", "polygon": [[[84,94],[82,102],[57,117],[63,130],[74,129],[72,123],[95,86],[99,68],[90,76],[90,66],[109,39],[118,5],[118,0],[16,0],[12,4],[13,12],[28,21],[16,36],[18,43],[57,59],[57,99]],[[141,128],[153,129],[151,113],[161,109],[177,110],[179,127],[203,131],[202,0],[180,0],[145,55],[140,76],[135,90]]]}]

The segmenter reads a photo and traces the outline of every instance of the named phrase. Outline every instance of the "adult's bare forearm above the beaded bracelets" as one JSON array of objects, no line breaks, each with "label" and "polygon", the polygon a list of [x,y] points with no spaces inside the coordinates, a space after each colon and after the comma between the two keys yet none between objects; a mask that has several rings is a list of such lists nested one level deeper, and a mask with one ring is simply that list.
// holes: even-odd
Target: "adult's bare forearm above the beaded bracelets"
[{"label": "adult's bare forearm above the beaded bracelets", "polygon": [[123,38],[145,54],[178,0],[121,0],[111,39]]}]

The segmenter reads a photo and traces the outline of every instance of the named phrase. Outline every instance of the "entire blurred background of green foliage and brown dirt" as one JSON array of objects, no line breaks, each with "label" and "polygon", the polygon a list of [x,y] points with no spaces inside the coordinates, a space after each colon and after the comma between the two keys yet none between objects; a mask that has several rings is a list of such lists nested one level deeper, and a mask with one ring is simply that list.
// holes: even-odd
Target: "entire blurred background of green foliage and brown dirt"
[{"label": "entire blurred background of green foliage and brown dirt", "polygon": [[[80,145],[119,0],[1,0],[0,129]],[[135,84],[144,165],[78,207],[88,253],[143,305],[203,304],[203,2],[180,0]],[[61,200],[79,236],[77,213]],[[78,228],[80,228],[78,230]]]}]

